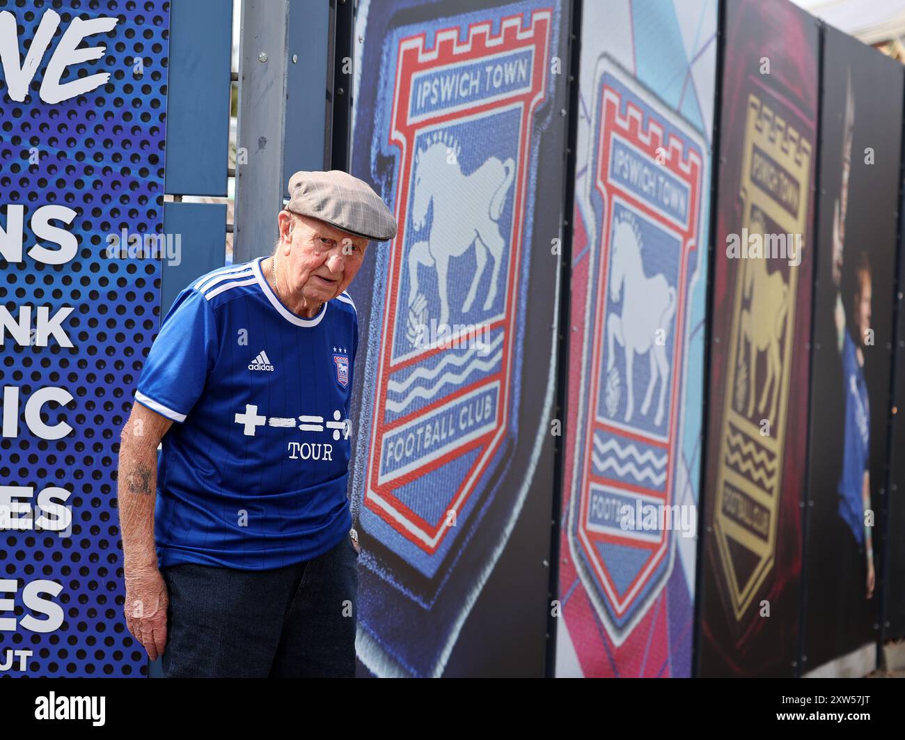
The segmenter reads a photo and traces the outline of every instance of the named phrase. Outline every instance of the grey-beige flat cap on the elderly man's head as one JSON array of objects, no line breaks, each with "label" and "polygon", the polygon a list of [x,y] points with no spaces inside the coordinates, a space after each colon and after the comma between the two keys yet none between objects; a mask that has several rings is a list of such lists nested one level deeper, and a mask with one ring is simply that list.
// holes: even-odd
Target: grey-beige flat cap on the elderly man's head
[{"label": "grey-beige flat cap on the elderly man's head", "polygon": [[338,169],[295,173],[289,178],[285,207],[375,242],[386,242],[396,232],[393,213],[373,188]]}]

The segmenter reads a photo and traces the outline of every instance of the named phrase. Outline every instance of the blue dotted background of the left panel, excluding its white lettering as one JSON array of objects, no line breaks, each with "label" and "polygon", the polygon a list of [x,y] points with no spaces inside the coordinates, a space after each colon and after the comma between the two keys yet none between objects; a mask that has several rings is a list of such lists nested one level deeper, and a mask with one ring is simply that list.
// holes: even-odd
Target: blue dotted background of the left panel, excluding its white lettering
[{"label": "blue dotted background of the left panel, excluding its white lettering", "polygon": [[[40,531],[0,531],[0,578],[15,579],[15,631],[0,631],[0,666],[7,650],[32,650],[27,669],[18,661],[0,676],[138,676],[144,651],[131,638],[124,598],[116,469],[119,431],[131,407],[143,359],[157,332],[160,263],[108,256],[108,236],[159,233],[163,219],[163,166],[167,94],[168,2],[124,0],[0,0],[14,14],[24,58],[43,14],[61,15],[23,103],[14,103],[0,80],[0,225],[8,204],[24,204],[23,261],[0,260],[0,302],[15,317],[20,306],[47,306],[51,316],[74,308],[62,327],[72,348],[0,348],[0,386],[18,386],[19,430],[0,440],[0,485],[48,486],[71,491],[71,536]],[[101,71],[108,84],[78,98],[48,105],[38,90],[51,53],[75,17],[114,16],[106,34],[81,47],[105,45],[100,59],[67,68],[62,82]],[[142,73],[136,73],[140,60]],[[35,156],[36,153],[36,156]],[[78,253],[62,265],[27,256],[37,240],[30,218],[45,204],[67,205],[78,215],[67,230]],[[56,225],[62,225],[57,223]],[[52,244],[48,244],[53,248]],[[48,403],[44,421],[68,422],[58,441],[33,435],[24,403],[45,386],[65,388],[73,401]],[[24,584],[46,579],[62,585],[52,599],[62,606],[62,626],[49,633],[25,630]],[[12,595],[0,593],[0,599]],[[35,618],[43,618],[40,613]]]}]

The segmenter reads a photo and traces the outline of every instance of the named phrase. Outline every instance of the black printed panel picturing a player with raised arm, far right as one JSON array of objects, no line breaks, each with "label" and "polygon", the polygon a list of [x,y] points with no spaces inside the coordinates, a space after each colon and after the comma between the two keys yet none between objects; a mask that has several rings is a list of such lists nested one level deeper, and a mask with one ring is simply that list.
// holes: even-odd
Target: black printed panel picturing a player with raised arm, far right
[{"label": "black printed panel picturing a player with raised arm, far right", "polygon": [[802,658],[817,675],[876,666],[903,83],[826,28]]}]

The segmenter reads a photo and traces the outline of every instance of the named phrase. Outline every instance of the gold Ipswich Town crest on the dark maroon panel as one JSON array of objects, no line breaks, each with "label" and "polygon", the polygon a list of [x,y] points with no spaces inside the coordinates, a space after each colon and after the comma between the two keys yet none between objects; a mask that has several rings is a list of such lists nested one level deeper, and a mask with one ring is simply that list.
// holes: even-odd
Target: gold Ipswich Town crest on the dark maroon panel
[{"label": "gold Ipswich Town crest on the dark maroon panel", "polygon": [[[798,283],[787,250],[797,242],[801,261],[811,166],[810,143],[754,94],[745,130],[739,242],[746,249],[736,269],[714,512],[736,621],[774,564]],[[784,244],[786,251],[777,249]]]}]

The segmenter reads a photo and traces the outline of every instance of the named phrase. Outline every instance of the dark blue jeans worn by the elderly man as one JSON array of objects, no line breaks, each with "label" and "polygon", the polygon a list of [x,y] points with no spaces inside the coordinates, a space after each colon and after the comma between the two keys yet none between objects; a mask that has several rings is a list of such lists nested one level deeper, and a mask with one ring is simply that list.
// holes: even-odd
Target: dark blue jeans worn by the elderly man
[{"label": "dark blue jeans worn by the elderly man", "polygon": [[167,678],[355,677],[357,550],[267,571],[178,564],[169,592]]}]

